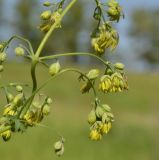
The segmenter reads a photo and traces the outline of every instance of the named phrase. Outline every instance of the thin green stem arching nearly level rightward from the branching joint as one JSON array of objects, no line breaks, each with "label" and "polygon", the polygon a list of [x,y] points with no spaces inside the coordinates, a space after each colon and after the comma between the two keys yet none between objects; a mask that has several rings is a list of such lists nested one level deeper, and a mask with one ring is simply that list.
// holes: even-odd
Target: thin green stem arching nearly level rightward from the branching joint
[{"label": "thin green stem arching nearly level rightward from the branching joint", "polygon": [[99,61],[101,61],[104,65],[109,66],[110,62],[103,60],[102,58],[100,58],[99,56],[92,54],[92,53],[85,53],[85,52],[76,52],[76,53],[62,53],[62,54],[56,54],[56,55],[52,55],[52,56],[45,56],[45,57],[40,57],[40,60],[50,60],[50,59],[56,59],[58,57],[62,57],[62,56],[90,56],[90,57],[95,57],[96,59],[98,59]]}]

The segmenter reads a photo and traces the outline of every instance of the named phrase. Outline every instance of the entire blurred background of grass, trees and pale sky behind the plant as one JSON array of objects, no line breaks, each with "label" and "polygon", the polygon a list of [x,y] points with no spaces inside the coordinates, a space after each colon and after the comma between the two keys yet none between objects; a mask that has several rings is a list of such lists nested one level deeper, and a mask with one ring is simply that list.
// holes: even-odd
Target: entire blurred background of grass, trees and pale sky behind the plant
[{"label": "entire blurred background of grass, trees and pale sky behind the plant", "polygon": [[[55,32],[43,54],[91,51],[89,34],[95,24],[91,18],[94,7],[91,2],[78,1],[68,14],[69,18],[66,16],[64,19],[63,30]],[[118,53],[107,54],[106,58],[126,64],[130,90],[100,95],[115,115],[111,132],[102,141],[89,140],[87,115],[93,96],[92,93],[82,95],[78,76],[68,73],[50,82],[42,91],[53,99],[51,114],[43,121],[43,126],[15,134],[7,143],[0,140],[0,159],[59,159],[53,149],[54,142],[58,140],[57,132],[66,139],[65,154],[60,158],[63,160],[159,159],[159,2],[123,0],[121,3],[126,19],[116,25],[121,37],[120,47]],[[31,39],[36,48],[43,36],[36,28],[43,9],[39,1],[0,0],[0,39],[3,41],[16,33]],[[1,84],[31,81],[30,64],[23,59],[18,60],[12,52],[17,44],[9,49],[9,63],[5,64]],[[70,57],[61,61],[62,66],[75,66],[83,71],[91,66],[102,67],[86,57]],[[46,68],[38,66],[39,84],[49,77],[47,72]],[[4,97],[0,96],[2,110]]]}]

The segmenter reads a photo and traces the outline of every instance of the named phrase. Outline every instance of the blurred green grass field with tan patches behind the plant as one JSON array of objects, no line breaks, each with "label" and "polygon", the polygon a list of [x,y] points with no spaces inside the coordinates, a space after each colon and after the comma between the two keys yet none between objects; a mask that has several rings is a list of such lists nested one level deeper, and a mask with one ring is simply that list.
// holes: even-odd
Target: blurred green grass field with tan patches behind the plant
[{"label": "blurred green grass field with tan patches behind the plant", "polygon": [[[9,64],[1,83],[29,82],[29,67],[28,64]],[[40,66],[37,73],[39,83],[49,76]],[[68,73],[42,91],[54,100],[52,113],[42,123],[48,127],[30,128],[24,134],[13,135],[7,143],[0,140],[0,159],[59,159],[53,150],[58,131],[66,139],[61,160],[159,160],[159,75],[131,73],[128,77],[128,92],[100,95],[115,115],[112,130],[102,141],[92,142],[88,138],[87,115],[93,96],[82,95],[77,75]],[[3,101],[0,106],[2,104]]]}]

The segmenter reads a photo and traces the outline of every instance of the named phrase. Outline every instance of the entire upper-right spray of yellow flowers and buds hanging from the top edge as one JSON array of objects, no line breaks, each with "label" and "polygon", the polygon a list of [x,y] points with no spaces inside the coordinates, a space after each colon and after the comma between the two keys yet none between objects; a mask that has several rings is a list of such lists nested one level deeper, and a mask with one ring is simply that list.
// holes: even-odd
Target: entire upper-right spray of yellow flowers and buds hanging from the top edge
[{"label": "entire upper-right spray of yellow flowers and buds hanging from the top edge", "polygon": [[[96,1],[97,7],[94,11],[94,19],[98,21],[97,27],[92,33],[91,44],[96,53],[101,56],[106,49],[114,50],[119,43],[119,35],[114,29],[113,22],[119,22],[120,17],[123,16],[121,6],[116,0],[109,0],[108,3],[101,3]],[[107,18],[105,17],[105,9],[107,6]],[[107,20],[108,19],[108,20]]]}]

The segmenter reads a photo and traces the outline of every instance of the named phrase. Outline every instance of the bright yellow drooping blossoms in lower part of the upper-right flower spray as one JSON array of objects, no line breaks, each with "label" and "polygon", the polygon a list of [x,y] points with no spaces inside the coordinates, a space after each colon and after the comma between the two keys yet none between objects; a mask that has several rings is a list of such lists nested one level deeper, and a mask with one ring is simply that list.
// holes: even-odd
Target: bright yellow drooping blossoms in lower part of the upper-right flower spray
[{"label": "bright yellow drooping blossoms in lower part of the upper-right flower spray", "polygon": [[102,55],[107,48],[114,50],[117,47],[118,42],[119,35],[109,23],[102,25],[99,28],[98,35],[92,38],[92,46],[99,55]]}]

